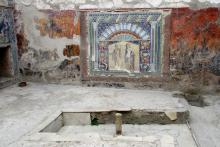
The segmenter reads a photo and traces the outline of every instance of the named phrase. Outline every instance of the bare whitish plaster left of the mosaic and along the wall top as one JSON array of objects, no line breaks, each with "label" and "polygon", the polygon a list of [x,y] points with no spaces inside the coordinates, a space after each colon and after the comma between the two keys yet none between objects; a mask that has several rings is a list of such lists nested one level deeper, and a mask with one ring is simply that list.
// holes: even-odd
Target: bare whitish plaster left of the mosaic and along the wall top
[{"label": "bare whitish plaster left of the mosaic and along the wall top", "polygon": [[[220,7],[220,0],[15,0],[16,9],[21,11],[22,20],[24,24],[24,33],[28,38],[28,47],[36,51],[53,52],[57,51],[59,59],[56,61],[45,62],[45,65],[40,63],[40,70],[52,69],[67,61],[67,57],[63,56],[63,48],[70,44],[80,44],[80,36],[74,35],[73,38],[50,38],[49,36],[41,36],[39,30],[34,25],[34,18],[46,17],[41,10],[79,10],[79,9],[116,9],[116,8],[182,8],[189,7],[190,9],[200,9],[204,7]],[[77,17],[78,18],[78,17]],[[75,21],[74,21],[75,22]],[[75,25],[75,24],[74,24]],[[31,53],[30,50],[29,53]],[[27,56],[28,53],[27,53]],[[24,60],[26,60],[24,55]],[[27,58],[33,64],[34,59]],[[32,61],[33,60],[33,61]],[[69,61],[65,62],[68,63]],[[25,62],[26,63],[26,62]],[[70,69],[69,69],[70,68]],[[66,68],[71,71],[71,65]],[[50,71],[51,77],[61,74],[61,71]],[[46,74],[45,74],[46,75]],[[61,74],[62,75],[62,74]],[[68,74],[67,74],[68,75]],[[75,75],[74,75],[75,76]],[[45,77],[43,75],[43,77]],[[68,77],[68,76],[67,76]],[[46,79],[46,78],[45,78]],[[62,76],[61,76],[62,79]]]}]

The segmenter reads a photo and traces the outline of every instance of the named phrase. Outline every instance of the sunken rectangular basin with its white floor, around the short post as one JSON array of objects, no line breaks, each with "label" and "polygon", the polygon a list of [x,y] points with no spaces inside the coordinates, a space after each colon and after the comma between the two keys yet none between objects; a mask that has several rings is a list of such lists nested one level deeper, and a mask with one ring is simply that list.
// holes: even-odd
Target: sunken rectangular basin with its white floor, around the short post
[{"label": "sunken rectangular basin with its white floor, around the short post", "polygon": [[[122,135],[119,136],[115,132],[115,113],[122,114]],[[81,142],[94,146],[97,145],[94,143],[134,143],[195,147],[191,131],[185,124],[188,115],[185,111],[176,112],[176,119],[170,120],[167,112],[149,110],[59,111],[48,117],[24,140],[30,144],[43,142],[49,145],[57,145],[57,142],[76,145]]]}]

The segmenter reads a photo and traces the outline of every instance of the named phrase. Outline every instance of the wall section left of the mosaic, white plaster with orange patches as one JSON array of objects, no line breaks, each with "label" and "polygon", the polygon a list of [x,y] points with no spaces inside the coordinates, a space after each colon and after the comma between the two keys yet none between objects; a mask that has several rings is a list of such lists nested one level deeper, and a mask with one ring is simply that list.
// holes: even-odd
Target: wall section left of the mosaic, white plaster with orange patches
[{"label": "wall section left of the mosaic, white plaster with orange patches", "polygon": [[73,10],[16,12],[20,72],[45,82],[79,81],[79,20]]}]

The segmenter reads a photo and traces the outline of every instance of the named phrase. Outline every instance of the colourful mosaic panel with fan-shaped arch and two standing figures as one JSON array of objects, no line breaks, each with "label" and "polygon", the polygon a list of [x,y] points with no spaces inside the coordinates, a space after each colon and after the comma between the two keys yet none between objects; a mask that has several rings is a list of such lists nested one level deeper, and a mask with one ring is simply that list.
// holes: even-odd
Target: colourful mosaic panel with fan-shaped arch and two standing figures
[{"label": "colourful mosaic panel with fan-shaped arch and two standing figures", "polygon": [[161,12],[88,14],[90,73],[161,71]]}]

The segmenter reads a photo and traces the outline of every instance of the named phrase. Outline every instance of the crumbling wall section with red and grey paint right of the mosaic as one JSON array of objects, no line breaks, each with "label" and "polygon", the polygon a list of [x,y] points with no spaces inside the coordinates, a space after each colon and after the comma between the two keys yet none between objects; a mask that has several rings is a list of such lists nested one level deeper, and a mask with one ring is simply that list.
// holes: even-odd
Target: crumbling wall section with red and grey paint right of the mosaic
[{"label": "crumbling wall section with red and grey paint right of the mosaic", "polygon": [[182,88],[220,85],[220,9],[172,10],[170,73]]}]

